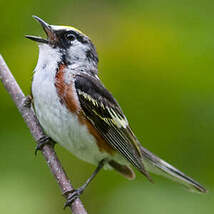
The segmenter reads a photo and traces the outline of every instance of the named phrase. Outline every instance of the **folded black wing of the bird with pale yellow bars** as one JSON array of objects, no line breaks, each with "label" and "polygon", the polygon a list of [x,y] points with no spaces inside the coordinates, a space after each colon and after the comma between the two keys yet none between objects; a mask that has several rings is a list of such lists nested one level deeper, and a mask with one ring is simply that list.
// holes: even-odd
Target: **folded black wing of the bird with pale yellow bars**
[{"label": "folded black wing of the bird with pale yellow bars", "polygon": [[140,145],[111,93],[99,79],[87,74],[76,75],[75,87],[85,116],[101,136],[148,177],[142,163]]}]

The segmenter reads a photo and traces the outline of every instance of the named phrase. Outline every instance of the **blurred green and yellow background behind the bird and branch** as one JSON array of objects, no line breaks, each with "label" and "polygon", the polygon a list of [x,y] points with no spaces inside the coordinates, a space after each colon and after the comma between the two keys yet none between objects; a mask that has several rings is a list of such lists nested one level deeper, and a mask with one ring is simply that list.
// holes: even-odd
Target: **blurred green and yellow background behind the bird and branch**
[{"label": "blurred green and yellow background behind the bird and branch", "polygon": [[[43,35],[31,16],[73,25],[91,37],[99,72],[149,150],[208,188],[185,191],[137,173],[130,182],[102,171],[81,197],[89,213],[214,212],[214,2],[211,0],[0,0],[0,53],[25,94]],[[0,213],[65,214],[64,198],[0,84]],[[56,146],[75,187],[94,170]]]}]

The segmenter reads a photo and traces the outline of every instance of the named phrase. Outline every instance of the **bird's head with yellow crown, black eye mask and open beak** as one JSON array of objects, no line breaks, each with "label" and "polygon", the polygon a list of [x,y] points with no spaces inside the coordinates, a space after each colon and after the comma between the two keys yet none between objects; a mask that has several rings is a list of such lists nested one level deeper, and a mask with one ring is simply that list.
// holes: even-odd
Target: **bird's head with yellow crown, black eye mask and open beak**
[{"label": "bird's head with yellow crown, black eye mask and open beak", "polygon": [[39,46],[51,49],[60,56],[65,64],[91,65],[96,67],[98,57],[91,40],[78,29],[71,26],[49,25],[37,16],[33,16],[42,26],[47,38],[26,35]]}]

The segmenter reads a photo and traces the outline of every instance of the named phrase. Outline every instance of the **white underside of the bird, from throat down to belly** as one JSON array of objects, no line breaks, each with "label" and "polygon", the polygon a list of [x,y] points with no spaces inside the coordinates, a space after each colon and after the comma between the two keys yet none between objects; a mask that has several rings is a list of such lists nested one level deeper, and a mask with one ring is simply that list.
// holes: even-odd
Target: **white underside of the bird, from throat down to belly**
[{"label": "white underside of the bird, from throat down to belly", "polygon": [[44,44],[40,46],[32,82],[36,115],[46,134],[54,141],[80,159],[97,164],[108,157],[108,154],[99,151],[95,138],[89,134],[87,127],[80,124],[77,116],[60,103],[54,85],[59,61],[60,54],[56,49]]}]

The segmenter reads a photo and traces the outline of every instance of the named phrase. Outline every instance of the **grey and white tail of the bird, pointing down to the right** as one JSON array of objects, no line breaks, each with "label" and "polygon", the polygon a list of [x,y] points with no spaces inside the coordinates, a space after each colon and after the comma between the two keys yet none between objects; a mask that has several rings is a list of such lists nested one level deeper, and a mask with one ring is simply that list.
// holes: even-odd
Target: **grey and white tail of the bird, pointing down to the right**
[{"label": "grey and white tail of the bird, pointing down to the right", "polygon": [[207,190],[198,182],[194,181],[192,178],[188,177],[172,165],[168,164],[166,161],[152,154],[150,151],[143,148],[142,146],[141,152],[143,155],[143,163],[145,165],[146,170],[155,174],[163,175],[178,183],[181,183],[190,191],[201,193],[207,192]]}]

